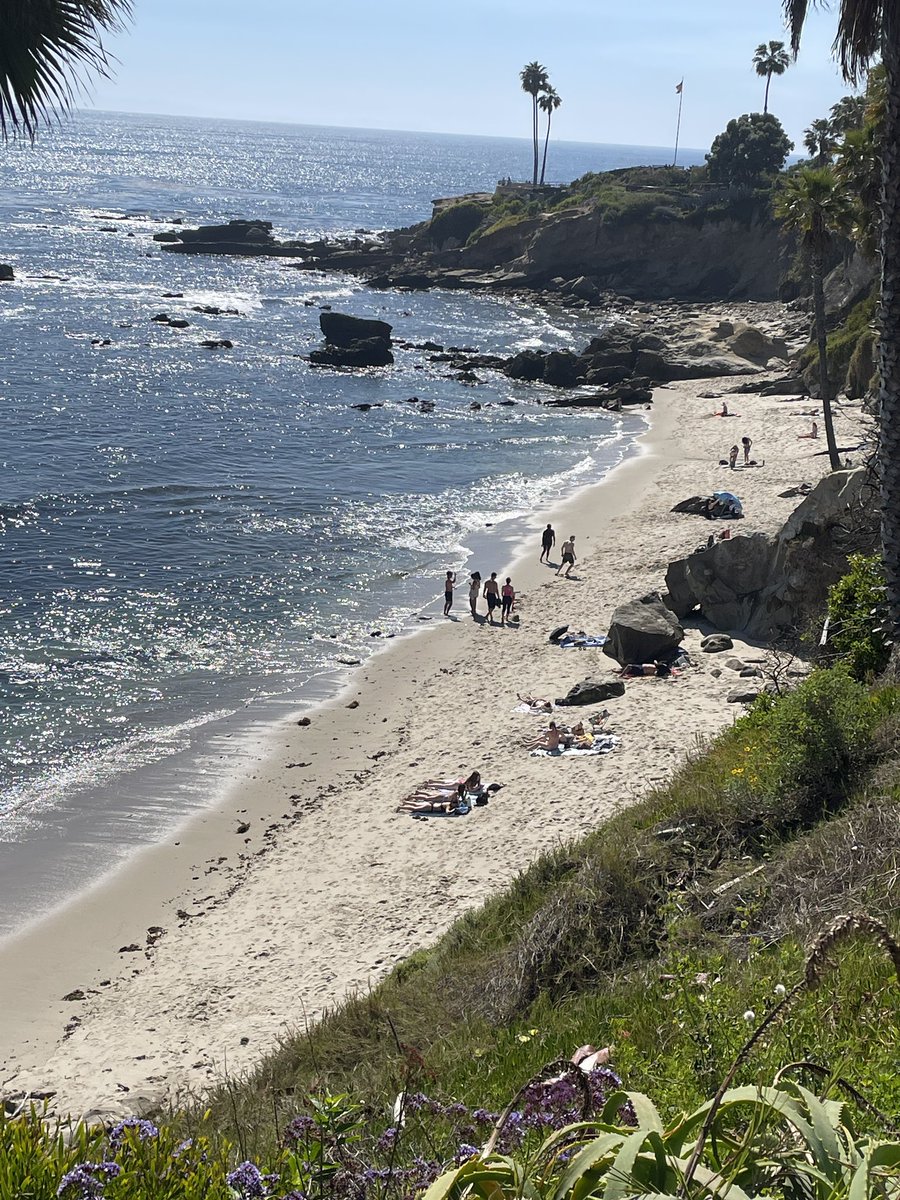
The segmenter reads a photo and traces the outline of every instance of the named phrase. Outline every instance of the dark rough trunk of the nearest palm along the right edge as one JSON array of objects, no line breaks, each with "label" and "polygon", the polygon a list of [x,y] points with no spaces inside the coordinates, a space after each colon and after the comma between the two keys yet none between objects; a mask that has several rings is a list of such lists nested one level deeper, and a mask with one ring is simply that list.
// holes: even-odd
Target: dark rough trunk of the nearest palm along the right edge
[{"label": "dark rough trunk of the nearest palm along the right edge", "polygon": [[896,644],[900,635],[900,17],[894,5],[883,6],[882,23],[887,110],[882,144],[877,464],[888,613]]}]

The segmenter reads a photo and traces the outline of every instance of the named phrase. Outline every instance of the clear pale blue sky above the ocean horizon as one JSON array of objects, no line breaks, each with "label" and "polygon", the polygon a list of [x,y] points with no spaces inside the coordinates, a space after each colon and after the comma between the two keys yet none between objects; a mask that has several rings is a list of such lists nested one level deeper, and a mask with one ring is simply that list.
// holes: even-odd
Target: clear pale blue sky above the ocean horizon
[{"label": "clear pale blue sky above the ocean horizon", "polygon": [[[760,42],[781,0],[134,0],[118,59],[88,103],[118,112],[530,136],[518,71],[538,59],[563,106],[556,136],[667,145],[684,77],[682,144],[707,148],[761,112]],[[803,130],[846,90],[834,13],[811,13],[769,108]]]}]

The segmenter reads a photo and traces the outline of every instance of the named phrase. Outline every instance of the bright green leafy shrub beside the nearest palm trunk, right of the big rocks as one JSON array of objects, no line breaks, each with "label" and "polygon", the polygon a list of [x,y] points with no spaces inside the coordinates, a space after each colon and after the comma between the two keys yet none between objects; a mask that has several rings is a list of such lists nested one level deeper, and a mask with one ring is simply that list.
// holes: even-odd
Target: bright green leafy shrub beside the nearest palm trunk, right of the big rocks
[{"label": "bright green leafy shrub beside the nearest palm trunk, right of the big rocks", "polygon": [[884,566],[877,554],[851,554],[850,570],[828,593],[829,642],[854,679],[868,679],[888,665],[882,632]]}]

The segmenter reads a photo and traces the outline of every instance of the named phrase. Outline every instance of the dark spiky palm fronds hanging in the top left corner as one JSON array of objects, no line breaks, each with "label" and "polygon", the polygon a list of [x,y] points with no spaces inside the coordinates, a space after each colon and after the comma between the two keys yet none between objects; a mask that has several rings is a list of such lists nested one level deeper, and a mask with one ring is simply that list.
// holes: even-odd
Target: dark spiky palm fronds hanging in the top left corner
[{"label": "dark spiky palm fronds hanging in the top left corner", "polygon": [[106,74],[103,31],[121,28],[131,0],[7,0],[0,12],[0,133],[30,138],[72,106],[79,67]]}]

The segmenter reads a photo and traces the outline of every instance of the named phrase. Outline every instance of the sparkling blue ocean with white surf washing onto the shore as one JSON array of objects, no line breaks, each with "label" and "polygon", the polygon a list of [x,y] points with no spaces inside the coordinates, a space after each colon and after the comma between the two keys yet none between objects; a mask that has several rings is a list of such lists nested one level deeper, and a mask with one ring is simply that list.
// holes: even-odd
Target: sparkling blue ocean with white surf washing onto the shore
[{"label": "sparkling blue ocean with white surf washing onto the shore", "polygon": [[[643,420],[466,386],[418,352],[360,374],[301,358],[323,305],[499,354],[578,348],[596,316],[152,241],[173,217],[410,224],[526,178],[529,142],[79,113],[0,155],[2,935],[208,804],[244,733],[334,690],[373,632],[436,619],[445,570],[504,565]],[[558,143],[548,178],[666,156]]]}]

